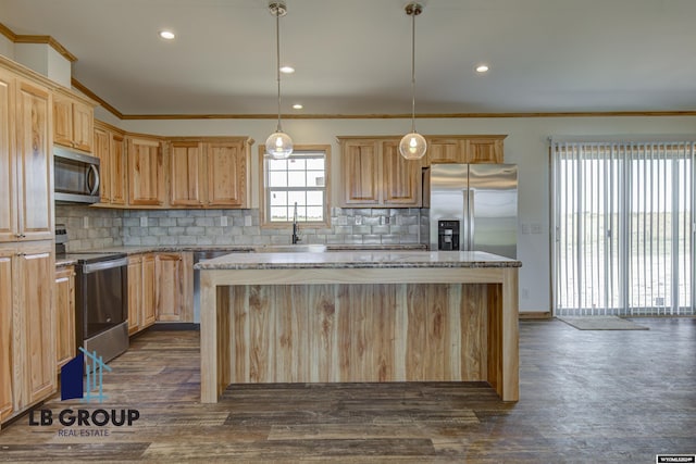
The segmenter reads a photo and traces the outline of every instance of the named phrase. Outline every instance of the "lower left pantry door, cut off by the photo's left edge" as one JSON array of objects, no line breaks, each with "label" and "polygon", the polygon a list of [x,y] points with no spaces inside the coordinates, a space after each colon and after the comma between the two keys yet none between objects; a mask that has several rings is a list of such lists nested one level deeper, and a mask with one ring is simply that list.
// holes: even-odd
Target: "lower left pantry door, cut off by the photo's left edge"
[{"label": "lower left pantry door, cut off by the photo's left edge", "polygon": [[12,414],[12,256],[0,248],[0,422]]}]

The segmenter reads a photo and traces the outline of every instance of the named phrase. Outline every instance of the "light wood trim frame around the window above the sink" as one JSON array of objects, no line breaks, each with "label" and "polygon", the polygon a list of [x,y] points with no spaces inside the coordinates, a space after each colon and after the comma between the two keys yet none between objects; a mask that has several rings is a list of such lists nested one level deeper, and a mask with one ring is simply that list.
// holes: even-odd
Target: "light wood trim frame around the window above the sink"
[{"label": "light wood trim frame around the window above the sink", "polygon": [[[296,152],[322,151],[324,153],[324,221],[298,221],[298,225],[310,228],[328,228],[331,227],[331,146],[330,145],[298,145],[294,147],[293,154]],[[289,158],[293,158],[290,154]],[[262,228],[286,228],[293,225],[293,221],[271,222],[269,217],[269,187],[268,164],[269,156],[265,154],[265,145],[259,146],[259,225]]]}]

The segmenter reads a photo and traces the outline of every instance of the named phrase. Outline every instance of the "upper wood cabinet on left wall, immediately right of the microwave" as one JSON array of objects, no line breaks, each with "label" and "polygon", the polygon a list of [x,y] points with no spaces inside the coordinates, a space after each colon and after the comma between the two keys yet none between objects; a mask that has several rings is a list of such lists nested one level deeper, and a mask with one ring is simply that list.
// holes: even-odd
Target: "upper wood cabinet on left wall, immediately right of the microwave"
[{"label": "upper wood cabinet on left wall, immediately right of the microwave", "polygon": [[95,123],[95,156],[101,161],[100,204],[126,204],[124,137],[100,122]]}]

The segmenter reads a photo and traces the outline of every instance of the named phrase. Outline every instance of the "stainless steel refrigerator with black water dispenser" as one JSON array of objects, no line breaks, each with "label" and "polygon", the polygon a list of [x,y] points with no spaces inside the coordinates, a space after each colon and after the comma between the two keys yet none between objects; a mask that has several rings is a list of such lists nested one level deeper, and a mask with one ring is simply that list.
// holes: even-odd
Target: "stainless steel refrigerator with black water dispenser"
[{"label": "stainless steel refrigerator with black water dispenser", "polygon": [[431,250],[487,251],[517,259],[515,164],[433,164],[425,181]]}]

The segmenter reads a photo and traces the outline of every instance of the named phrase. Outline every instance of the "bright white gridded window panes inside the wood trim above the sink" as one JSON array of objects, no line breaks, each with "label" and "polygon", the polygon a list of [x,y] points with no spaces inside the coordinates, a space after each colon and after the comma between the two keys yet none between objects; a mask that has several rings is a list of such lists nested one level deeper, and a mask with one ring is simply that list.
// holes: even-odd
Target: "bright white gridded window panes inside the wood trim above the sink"
[{"label": "bright white gridded window panes inside the wood trim above the sink", "polygon": [[326,224],[328,147],[296,148],[287,160],[263,158],[264,224]]}]

